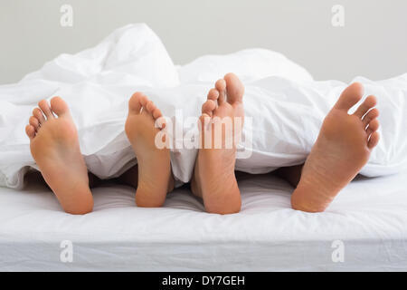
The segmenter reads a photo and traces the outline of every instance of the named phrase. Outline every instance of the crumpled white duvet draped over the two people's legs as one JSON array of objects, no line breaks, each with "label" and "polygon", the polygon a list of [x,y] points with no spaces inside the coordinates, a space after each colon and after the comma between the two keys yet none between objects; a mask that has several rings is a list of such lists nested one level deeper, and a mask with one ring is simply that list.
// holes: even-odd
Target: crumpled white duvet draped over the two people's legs
[{"label": "crumpled white duvet draped over the two people's legs", "polygon": [[[298,64],[263,49],[207,55],[177,67],[147,25],[130,24],[94,48],[62,54],[21,82],[0,86],[0,186],[21,188],[26,170],[36,168],[24,127],[42,99],[59,95],[69,103],[88,168],[106,179],[137,163],[124,134],[133,92],[146,92],[168,118],[180,111],[197,117],[208,90],[229,72],[246,87],[243,134],[252,139],[240,147],[251,154],[238,159],[236,169],[250,173],[303,162],[347,85],[315,82]],[[365,96],[377,96],[381,111],[382,139],[361,173],[373,177],[406,169],[407,73],[380,82],[355,81],[364,84]],[[189,126],[185,131],[195,124]],[[195,157],[196,150],[172,150],[175,179],[190,179]]]}]

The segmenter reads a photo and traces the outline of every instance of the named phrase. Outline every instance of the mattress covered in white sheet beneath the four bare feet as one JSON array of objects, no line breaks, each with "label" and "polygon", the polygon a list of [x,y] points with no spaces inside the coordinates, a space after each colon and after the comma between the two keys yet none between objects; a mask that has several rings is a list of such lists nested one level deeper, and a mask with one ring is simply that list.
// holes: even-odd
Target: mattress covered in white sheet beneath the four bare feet
[{"label": "mattress covered in white sheet beneath the four bare feet", "polygon": [[317,214],[291,209],[292,188],[271,175],[242,176],[241,212],[226,216],[187,186],[163,208],[137,208],[134,189],[108,183],[84,216],[43,185],[1,188],[0,270],[405,271],[406,179],[358,177]]}]

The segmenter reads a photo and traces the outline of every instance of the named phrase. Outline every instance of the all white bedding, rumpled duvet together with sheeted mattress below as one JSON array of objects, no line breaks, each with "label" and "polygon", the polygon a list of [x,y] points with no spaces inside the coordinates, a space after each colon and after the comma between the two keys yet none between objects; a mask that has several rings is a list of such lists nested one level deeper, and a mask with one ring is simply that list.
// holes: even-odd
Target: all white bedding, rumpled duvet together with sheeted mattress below
[{"label": "all white bedding, rumpled duvet together with sheeted mattress below", "polygon": [[[382,140],[358,179],[327,212],[289,206],[288,184],[258,175],[240,182],[241,213],[204,212],[185,188],[164,208],[137,208],[134,189],[94,189],[94,212],[71,216],[45,188],[24,186],[35,168],[24,134],[35,104],[62,96],[70,105],[86,163],[100,178],[134,165],[123,133],[129,96],[147,92],[164,114],[198,116],[213,82],[237,73],[246,86],[245,136],[252,155],[236,167],[260,173],[305,160],[343,82],[314,82],[279,53],[246,50],[204,56],[176,67],[147,25],[132,24],[84,52],[63,54],[19,83],[0,86],[0,270],[406,270],[407,74],[382,82],[364,78],[379,99]],[[250,124],[253,124],[252,126]],[[175,178],[188,181],[196,150],[172,150]],[[15,190],[22,189],[22,190]],[[345,243],[345,262],[331,259]],[[60,261],[62,240],[73,263]]]}]

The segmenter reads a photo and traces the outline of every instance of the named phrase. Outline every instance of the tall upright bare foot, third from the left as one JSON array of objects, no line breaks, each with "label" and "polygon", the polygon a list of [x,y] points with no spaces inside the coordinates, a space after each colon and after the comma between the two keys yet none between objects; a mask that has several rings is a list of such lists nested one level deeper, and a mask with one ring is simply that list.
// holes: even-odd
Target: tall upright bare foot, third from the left
[{"label": "tall upright bare foot, third from the left", "polygon": [[[243,93],[241,81],[233,73],[228,73],[224,79],[216,82],[215,89],[208,93],[208,100],[202,106],[202,149],[195,162],[191,188],[194,195],[204,198],[206,211],[211,213],[231,214],[241,210],[241,192],[234,175],[236,144],[239,140],[234,136],[234,129],[235,126],[240,126],[237,131],[241,131],[243,125]],[[240,124],[235,122],[235,117],[241,118]],[[222,121],[227,120],[232,121],[229,129],[222,125]],[[225,128],[221,134],[216,134],[217,140],[215,126],[219,126],[221,130],[223,126]],[[212,136],[207,145],[204,144],[206,136]],[[217,141],[222,146],[216,148]],[[227,146],[229,141],[231,146]]]}]

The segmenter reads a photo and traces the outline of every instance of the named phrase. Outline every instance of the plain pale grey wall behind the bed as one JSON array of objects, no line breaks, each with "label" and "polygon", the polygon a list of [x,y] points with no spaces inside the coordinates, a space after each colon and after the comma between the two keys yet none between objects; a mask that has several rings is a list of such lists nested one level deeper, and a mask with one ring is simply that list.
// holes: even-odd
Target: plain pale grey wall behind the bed
[{"label": "plain pale grey wall behind the bed", "polygon": [[[60,24],[64,4],[72,27]],[[345,27],[331,24],[333,5],[345,7]],[[379,80],[407,72],[406,15],[405,0],[0,0],[0,83],[129,23],[148,24],[177,64],[263,47],[317,80]]]}]

